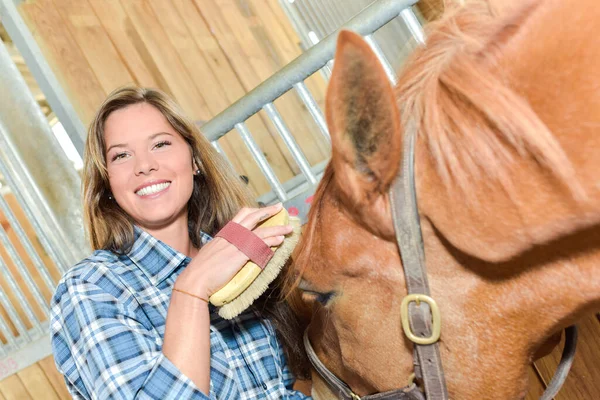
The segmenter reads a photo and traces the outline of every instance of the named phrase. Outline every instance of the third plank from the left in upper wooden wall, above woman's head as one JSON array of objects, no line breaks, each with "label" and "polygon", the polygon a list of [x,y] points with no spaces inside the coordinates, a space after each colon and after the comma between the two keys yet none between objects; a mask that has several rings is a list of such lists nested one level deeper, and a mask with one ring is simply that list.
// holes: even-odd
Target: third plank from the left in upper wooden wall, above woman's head
[{"label": "third plank from the left in upper wooden wall, above woman's head", "polygon": [[166,90],[164,78],[119,0],[89,0],[134,82]]}]

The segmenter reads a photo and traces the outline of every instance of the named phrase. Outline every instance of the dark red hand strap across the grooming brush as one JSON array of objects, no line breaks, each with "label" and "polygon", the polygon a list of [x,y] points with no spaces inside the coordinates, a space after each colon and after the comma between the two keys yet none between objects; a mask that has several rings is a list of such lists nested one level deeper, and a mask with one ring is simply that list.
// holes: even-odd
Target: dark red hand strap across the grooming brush
[{"label": "dark red hand strap across the grooming brush", "polygon": [[233,221],[228,222],[215,237],[221,237],[238,248],[250,261],[264,269],[273,251],[254,232]]}]

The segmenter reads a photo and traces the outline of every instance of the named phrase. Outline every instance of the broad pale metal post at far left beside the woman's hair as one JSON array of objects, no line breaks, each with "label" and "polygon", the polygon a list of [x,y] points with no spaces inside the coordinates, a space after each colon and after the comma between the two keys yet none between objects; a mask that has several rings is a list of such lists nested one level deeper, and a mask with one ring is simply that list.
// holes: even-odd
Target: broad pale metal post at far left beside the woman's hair
[{"label": "broad pale metal post at far left beside the woman's hair", "polygon": [[81,178],[3,43],[0,76],[0,173],[62,270],[87,254]]}]

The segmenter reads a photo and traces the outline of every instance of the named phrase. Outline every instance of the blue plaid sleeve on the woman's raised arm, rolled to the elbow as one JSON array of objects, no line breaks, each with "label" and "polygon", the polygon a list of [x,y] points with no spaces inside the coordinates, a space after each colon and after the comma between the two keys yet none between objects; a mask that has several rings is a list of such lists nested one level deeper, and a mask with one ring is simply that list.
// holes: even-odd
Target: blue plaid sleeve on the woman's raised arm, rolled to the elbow
[{"label": "blue plaid sleeve on the woman's raised arm, rolled to the elbow", "polygon": [[57,288],[52,350],[74,397],[210,399],[163,355],[162,338],[134,303],[126,290],[77,279]]}]

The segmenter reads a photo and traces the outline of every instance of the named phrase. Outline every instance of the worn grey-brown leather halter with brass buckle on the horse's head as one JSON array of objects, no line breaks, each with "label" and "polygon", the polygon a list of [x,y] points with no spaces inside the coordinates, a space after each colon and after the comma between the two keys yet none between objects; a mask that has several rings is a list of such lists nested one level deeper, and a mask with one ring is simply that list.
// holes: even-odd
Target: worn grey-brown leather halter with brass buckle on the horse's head
[{"label": "worn grey-brown leather halter with brass buckle on the horse's head", "polygon": [[[406,126],[402,169],[390,189],[390,202],[396,241],[400,249],[408,291],[401,307],[403,329],[407,337],[413,342],[415,377],[423,382],[425,395],[414,383],[404,389],[363,397],[356,395],[345,382],[329,371],[319,360],[310,344],[307,329],[304,332],[304,347],[313,368],[330,389],[343,400],[448,400],[448,390],[438,345],[441,321],[437,304],[430,297],[425,270],[421,222],[417,208],[414,173],[416,136],[414,122],[411,122]],[[577,343],[577,328],[571,326],[565,332],[565,347],[562,358],[554,377],[540,400],[550,400],[558,393],[573,364]]]}]

